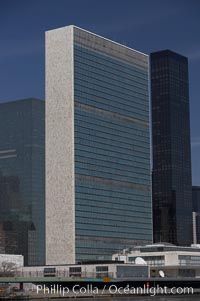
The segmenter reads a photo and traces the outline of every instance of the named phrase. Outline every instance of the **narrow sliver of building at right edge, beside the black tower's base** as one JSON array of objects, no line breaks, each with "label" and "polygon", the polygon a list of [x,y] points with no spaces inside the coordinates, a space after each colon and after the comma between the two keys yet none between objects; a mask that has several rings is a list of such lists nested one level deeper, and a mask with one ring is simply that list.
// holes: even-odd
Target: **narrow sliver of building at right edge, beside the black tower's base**
[{"label": "narrow sliver of building at right edge, beside the black tower's base", "polygon": [[200,243],[200,187],[192,186],[193,243]]}]

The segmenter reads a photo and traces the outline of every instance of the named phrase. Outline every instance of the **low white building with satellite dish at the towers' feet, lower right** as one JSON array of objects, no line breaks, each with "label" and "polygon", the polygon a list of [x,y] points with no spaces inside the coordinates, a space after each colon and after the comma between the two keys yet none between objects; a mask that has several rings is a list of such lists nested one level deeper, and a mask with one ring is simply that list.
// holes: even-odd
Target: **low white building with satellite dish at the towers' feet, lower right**
[{"label": "low white building with satellite dish at the towers' feet, lower right", "polygon": [[158,243],[125,249],[112,256],[115,261],[123,260],[129,264],[135,264],[136,258],[142,258],[141,261],[151,267],[151,277],[200,276],[200,245],[182,247]]}]

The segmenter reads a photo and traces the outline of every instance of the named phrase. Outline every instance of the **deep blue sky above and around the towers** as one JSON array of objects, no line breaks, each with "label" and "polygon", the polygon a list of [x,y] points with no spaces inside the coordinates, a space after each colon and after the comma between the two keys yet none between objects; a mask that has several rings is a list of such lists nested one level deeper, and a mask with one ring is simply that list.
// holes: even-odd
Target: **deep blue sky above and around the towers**
[{"label": "deep blue sky above and around the towers", "polygon": [[138,51],[189,58],[193,184],[200,186],[200,0],[0,0],[0,102],[44,99],[44,32],[77,25]]}]

